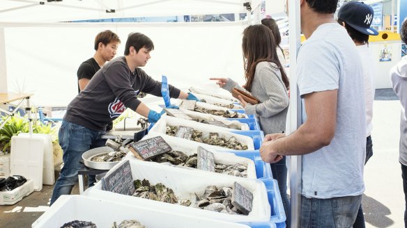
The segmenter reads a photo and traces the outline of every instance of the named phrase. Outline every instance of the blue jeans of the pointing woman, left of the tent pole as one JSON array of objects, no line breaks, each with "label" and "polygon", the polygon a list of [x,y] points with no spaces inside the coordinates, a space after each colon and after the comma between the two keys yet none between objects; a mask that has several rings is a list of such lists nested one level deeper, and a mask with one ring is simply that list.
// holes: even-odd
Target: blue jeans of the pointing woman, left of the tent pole
[{"label": "blue jeans of the pointing woman, left of the tent pole", "polygon": [[287,195],[286,156],[283,156],[282,160],[278,161],[277,163],[271,163],[270,166],[272,178],[277,180],[279,192],[282,196],[284,212],[286,213],[286,227],[291,227],[291,205]]}]

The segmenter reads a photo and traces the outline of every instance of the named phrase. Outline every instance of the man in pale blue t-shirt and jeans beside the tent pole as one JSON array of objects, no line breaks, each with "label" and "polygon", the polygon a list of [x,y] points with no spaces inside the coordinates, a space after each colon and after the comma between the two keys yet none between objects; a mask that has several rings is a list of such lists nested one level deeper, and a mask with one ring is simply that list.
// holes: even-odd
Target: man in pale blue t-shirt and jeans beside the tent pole
[{"label": "man in pale blue t-shirt and jeans beside the tent pole", "polygon": [[301,227],[352,227],[364,192],[362,62],[336,9],[337,0],[300,1],[302,125],[289,136],[267,135],[260,148],[266,162],[302,155]]}]

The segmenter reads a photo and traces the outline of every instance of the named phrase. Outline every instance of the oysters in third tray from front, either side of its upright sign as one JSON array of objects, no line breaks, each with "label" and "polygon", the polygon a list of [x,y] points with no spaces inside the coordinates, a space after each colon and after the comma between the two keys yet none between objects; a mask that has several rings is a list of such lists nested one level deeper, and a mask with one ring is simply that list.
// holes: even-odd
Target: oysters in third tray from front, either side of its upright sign
[{"label": "oysters in third tray from front, either side of its upright sign", "polygon": [[[157,156],[153,159],[150,159],[150,161],[154,161],[157,163],[171,163],[172,165],[178,165],[178,166],[184,166],[184,167],[190,167],[190,168],[197,168],[197,161],[198,161],[198,156],[197,154],[187,156],[183,152],[178,152],[178,151],[171,151],[167,152],[164,154],[160,154],[160,156]],[[223,173],[223,174],[228,174],[231,176],[236,176],[236,177],[247,177],[247,167],[245,165],[241,165],[239,163],[236,163],[234,165],[224,165],[221,163],[215,163],[215,172]]]}]

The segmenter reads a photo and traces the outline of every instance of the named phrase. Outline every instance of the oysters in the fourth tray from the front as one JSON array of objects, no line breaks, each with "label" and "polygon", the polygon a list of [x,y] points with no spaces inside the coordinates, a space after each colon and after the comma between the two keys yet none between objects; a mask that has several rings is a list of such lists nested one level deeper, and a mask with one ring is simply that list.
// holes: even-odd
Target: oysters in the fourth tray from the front
[{"label": "oysters in the fourth tray from the front", "polygon": [[[175,136],[177,131],[178,127],[167,125],[165,133],[169,136]],[[228,140],[224,137],[220,137],[218,133],[209,133],[208,138],[202,138],[202,132],[194,130],[191,139],[194,140],[195,142],[203,142],[209,145],[226,147],[229,149],[246,150],[248,148],[247,145],[243,145],[235,137],[231,137]]]}]

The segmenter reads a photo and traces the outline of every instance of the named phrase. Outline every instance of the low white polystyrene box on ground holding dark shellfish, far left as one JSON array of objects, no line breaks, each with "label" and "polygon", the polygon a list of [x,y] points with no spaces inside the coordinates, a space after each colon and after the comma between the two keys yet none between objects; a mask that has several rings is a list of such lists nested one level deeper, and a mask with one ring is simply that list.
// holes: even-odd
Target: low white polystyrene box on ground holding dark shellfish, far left
[{"label": "low white polystyrene box on ground holding dark shellfish, far left", "polygon": [[27,179],[26,183],[13,190],[0,192],[0,205],[13,205],[23,197],[30,195],[34,191],[33,180]]}]

